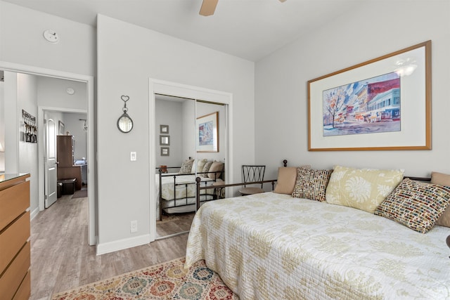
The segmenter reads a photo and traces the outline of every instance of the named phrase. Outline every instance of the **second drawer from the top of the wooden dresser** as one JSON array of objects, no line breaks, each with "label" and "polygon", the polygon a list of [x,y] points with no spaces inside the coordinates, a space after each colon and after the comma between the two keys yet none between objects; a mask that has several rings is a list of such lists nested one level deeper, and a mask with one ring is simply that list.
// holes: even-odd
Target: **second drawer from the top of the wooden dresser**
[{"label": "second drawer from the top of the wooden dresser", "polygon": [[30,211],[27,211],[0,233],[0,271],[8,266],[29,237]]}]

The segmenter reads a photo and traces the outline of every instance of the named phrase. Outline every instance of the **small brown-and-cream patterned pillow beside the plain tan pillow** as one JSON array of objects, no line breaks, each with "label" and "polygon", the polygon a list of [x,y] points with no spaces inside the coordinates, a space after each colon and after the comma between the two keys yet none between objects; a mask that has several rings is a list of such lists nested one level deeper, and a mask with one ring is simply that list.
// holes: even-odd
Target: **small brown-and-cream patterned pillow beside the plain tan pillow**
[{"label": "small brown-and-cream patterned pillow beside the plain tan pillow", "polygon": [[333,170],[297,169],[297,181],[293,197],[325,201],[325,190]]}]

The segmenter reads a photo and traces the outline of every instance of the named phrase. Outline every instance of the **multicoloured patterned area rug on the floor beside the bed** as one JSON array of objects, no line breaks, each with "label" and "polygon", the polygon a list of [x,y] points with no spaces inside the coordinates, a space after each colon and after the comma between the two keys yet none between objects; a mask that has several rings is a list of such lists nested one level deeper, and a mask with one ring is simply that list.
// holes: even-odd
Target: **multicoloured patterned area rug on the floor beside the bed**
[{"label": "multicoloured patterned area rug on the floor beside the bed", "polygon": [[239,299],[217,273],[198,261],[184,269],[185,259],[174,259],[106,280],[54,294],[52,300]]}]

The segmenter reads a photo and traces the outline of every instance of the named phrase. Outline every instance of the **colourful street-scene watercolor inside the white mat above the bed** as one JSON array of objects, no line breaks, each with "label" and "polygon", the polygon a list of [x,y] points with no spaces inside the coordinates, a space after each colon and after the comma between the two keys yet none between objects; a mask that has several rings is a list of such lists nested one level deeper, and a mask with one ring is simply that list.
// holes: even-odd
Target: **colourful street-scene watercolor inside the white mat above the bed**
[{"label": "colourful street-scene watercolor inside the white mat above the bed", "polygon": [[323,136],[401,131],[398,72],[323,91]]}]

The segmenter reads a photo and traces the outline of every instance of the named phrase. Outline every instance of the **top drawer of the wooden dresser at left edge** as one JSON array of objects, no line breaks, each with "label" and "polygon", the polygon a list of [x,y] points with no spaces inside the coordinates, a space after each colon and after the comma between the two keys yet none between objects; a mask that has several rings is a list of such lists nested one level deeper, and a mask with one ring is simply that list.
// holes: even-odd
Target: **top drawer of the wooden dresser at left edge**
[{"label": "top drawer of the wooden dresser at left edge", "polygon": [[0,230],[30,207],[30,181],[0,190]]}]

